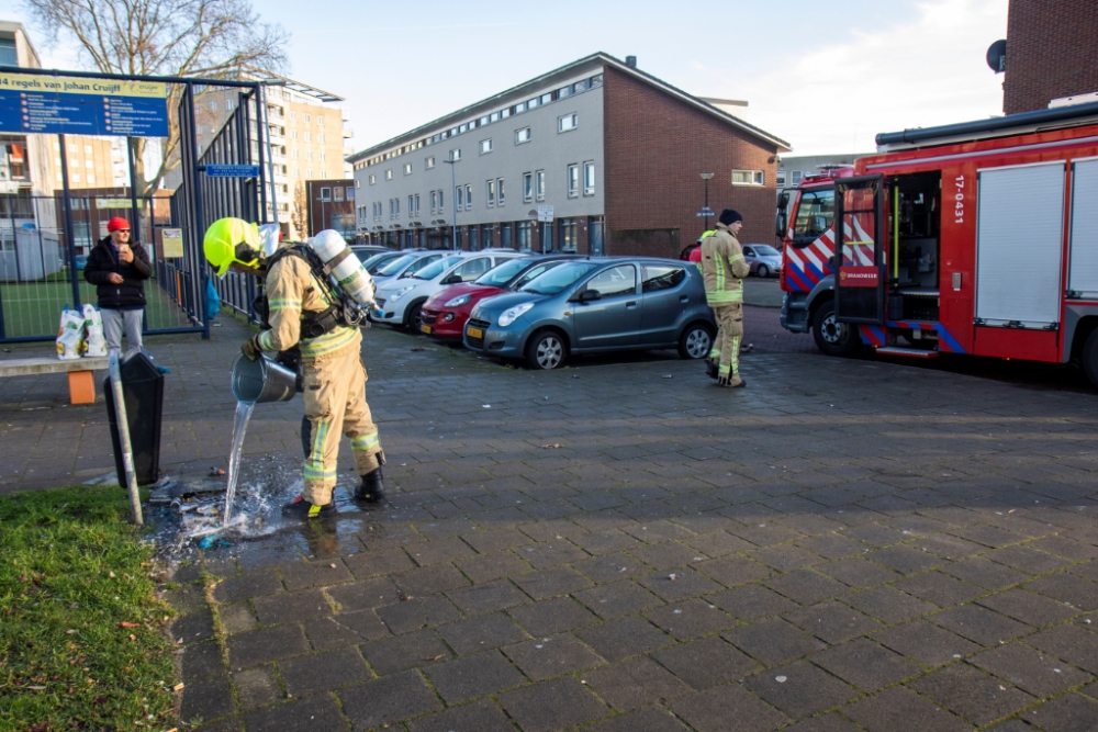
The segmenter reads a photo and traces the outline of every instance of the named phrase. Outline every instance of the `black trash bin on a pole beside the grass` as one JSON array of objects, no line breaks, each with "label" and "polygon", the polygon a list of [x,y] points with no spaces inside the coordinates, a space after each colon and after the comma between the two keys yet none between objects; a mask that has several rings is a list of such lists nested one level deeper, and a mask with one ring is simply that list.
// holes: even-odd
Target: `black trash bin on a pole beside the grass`
[{"label": "black trash bin on a pole beside the grass", "polygon": [[[133,451],[137,485],[156,483],[160,473],[160,420],[164,417],[164,374],[153,360],[137,351],[120,364],[122,396],[126,403],[126,421],[130,425],[130,449]],[[114,468],[119,483],[125,484],[122,465],[122,441],[114,413],[114,390],[111,376],[103,380],[107,395],[107,414],[111,423],[111,443],[114,446]]]}]

